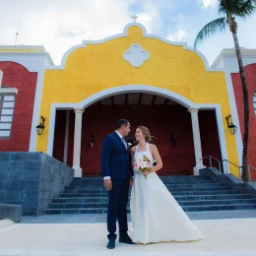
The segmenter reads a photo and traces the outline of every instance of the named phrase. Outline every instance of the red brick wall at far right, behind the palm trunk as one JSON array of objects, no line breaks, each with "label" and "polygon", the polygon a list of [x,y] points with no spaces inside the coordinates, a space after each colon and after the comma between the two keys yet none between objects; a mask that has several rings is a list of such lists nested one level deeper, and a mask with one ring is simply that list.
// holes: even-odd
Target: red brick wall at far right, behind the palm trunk
[{"label": "red brick wall at far right, behind the palm trunk", "polygon": [[[248,145],[248,164],[256,167],[256,115],[254,113],[254,108],[252,104],[253,96],[256,93],[256,64],[250,64],[245,68],[245,76],[248,87],[249,96],[249,145]],[[238,111],[238,118],[241,127],[241,135],[243,138],[243,94],[242,86],[240,81],[240,73],[231,74],[234,96]],[[256,171],[251,172],[252,177],[256,180]]]}]

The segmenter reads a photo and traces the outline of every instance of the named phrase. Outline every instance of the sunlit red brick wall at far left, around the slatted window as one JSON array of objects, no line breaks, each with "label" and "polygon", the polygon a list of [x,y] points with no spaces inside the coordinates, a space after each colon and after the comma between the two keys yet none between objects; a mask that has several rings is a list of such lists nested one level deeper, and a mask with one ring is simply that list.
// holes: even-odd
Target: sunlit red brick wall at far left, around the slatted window
[{"label": "sunlit red brick wall at far left, around the slatted window", "polygon": [[0,140],[0,151],[27,152],[30,148],[37,73],[29,72],[24,66],[11,61],[0,62],[0,70],[4,72],[2,85],[18,89],[11,137]]}]

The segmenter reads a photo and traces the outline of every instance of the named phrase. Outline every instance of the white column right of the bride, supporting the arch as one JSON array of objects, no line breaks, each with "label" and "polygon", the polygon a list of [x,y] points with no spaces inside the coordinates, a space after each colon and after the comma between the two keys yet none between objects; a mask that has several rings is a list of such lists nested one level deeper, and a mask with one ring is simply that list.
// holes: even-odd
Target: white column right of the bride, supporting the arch
[{"label": "white column right of the bride, supporting the arch", "polygon": [[201,138],[198,122],[198,108],[190,108],[189,112],[191,113],[192,120],[192,130],[193,130],[193,139],[194,139],[194,149],[195,149],[195,159],[196,166],[194,169],[194,175],[199,175],[199,169],[204,168],[202,160],[202,147],[201,147]]}]

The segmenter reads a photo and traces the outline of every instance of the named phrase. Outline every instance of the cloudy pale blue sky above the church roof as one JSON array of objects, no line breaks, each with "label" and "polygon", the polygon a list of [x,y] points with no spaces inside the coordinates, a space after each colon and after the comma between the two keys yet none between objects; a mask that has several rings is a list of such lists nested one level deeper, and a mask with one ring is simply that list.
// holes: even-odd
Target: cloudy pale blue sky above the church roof
[{"label": "cloudy pale blue sky above the church roof", "polygon": [[[206,24],[222,17],[218,0],[0,0],[0,45],[43,45],[59,65],[64,53],[83,40],[122,33],[133,14],[148,33],[191,47]],[[256,49],[256,13],[237,23],[240,46]],[[198,50],[211,65],[223,48],[231,47],[227,29]]]}]

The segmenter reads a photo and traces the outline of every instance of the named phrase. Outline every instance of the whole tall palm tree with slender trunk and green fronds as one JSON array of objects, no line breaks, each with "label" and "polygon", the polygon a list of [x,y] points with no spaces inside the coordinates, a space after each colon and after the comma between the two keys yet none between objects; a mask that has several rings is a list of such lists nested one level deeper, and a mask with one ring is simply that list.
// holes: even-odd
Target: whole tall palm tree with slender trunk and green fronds
[{"label": "whole tall palm tree with slender trunk and green fronds", "polygon": [[256,9],[256,0],[219,0],[219,14],[224,15],[223,18],[217,19],[207,24],[198,34],[194,42],[196,49],[198,43],[203,41],[206,37],[213,35],[217,32],[224,32],[226,27],[232,33],[234,48],[238,61],[240,79],[243,92],[244,104],[244,134],[243,134],[243,152],[242,152],[242,180],[248,181],[247,173],[247,152],[248,152],[248,134],[249,134],[249,102],[247,83],[244,74],[244,67],[241,57],[241,51],[237,38],[237,23],[236,18],[245,19]]}]

